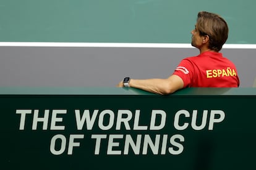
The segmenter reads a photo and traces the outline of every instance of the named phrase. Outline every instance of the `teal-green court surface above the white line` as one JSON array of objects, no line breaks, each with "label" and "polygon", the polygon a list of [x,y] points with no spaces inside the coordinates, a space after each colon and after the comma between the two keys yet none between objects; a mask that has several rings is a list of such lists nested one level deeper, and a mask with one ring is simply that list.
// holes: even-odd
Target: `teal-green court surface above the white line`
[{"label": "teal-green court surface above the white line", "polygon": [[1,0],[1,42],[189,43],[197,12],[222,15],[229,44],[256,44],[256,1]]}]

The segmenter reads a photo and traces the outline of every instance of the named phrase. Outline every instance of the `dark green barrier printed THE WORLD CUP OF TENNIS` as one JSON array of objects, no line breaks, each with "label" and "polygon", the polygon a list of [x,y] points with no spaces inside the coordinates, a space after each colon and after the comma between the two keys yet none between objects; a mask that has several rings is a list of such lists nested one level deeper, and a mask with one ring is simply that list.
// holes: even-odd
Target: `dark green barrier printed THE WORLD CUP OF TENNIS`
[{"label": "dark green barrier printed THE WORLD CUP OF TENNIS", "polygon": [[256,90],[1,88],[5,169],[252,169]]}]

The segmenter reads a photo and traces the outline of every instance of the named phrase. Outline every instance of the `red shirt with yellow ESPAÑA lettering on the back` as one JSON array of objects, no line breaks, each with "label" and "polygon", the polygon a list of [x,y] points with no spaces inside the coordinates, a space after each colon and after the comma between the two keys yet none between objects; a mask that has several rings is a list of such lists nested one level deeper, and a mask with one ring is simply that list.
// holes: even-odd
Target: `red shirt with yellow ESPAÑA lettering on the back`
[{"label": "red shirt with yellow ESPA\u00d1A lettering on the back", "polygon": [[184,87],[239,87],[236,66],[220,52],[183,59],[173,75],[182,78]]}]

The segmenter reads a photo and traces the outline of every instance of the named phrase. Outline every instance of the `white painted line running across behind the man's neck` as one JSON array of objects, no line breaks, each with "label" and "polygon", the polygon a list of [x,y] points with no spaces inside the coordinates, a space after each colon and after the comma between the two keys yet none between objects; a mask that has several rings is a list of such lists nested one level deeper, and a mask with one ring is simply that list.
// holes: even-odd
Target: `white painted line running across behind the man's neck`
[{"label": "white painted line running across behind the man's neck", "polygon": [[[185,43],[116,43],[116,42],[0,42],[2,47],[143,47],[194,48]],[[256,44],[224,44],[223,49],[256,49]]]}]

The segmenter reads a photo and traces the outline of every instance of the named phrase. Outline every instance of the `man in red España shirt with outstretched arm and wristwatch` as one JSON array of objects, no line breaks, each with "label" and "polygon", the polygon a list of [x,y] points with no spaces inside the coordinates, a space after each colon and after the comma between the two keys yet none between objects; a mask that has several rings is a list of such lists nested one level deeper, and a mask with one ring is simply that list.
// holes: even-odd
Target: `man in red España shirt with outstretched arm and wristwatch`
[{"label": "man in red Espa\u00f1a shirt with outstretched arm and wristwatch", "polygon": [[191,44],[199,49],[200,54],[183,59],[169,78],[124,78],[117,87],[135,87],[163,95],[185,87],[238,87],[236,66],[220,53],[228,39],[226,21],[217,14],[198,12],[191,34]]}]

